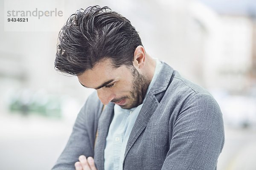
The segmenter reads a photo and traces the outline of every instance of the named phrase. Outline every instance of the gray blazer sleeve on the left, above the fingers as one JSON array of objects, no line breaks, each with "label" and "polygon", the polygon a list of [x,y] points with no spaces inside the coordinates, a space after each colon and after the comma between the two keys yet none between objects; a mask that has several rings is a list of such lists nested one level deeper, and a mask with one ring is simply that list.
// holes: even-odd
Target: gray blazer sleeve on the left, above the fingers
[{"label": "gray blazer sleeve on the left, above the fingers", "polygon": [[69,140],[52,170],[75,170],[75,162],[80,155],[93,156],[94,140],[102,104],[91,94],[81,108]]}]

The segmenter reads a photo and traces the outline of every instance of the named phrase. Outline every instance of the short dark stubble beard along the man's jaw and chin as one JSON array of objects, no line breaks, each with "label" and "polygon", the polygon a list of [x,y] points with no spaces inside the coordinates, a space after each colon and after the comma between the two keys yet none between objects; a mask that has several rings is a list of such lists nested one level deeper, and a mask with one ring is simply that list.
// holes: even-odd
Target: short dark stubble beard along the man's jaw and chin
[{"label": "short dark stubble beard along the man's jaw and chin", "polygon": [[123,109],[131,109],[142,104],[148,89],[148,85],[151,82],[151,80],[146,79],[144,75],[140,74],[134,66],[129,67],[129,69],[131,70],[134,80],[132,82],[130,95],[118,99],[118,101],[121,101],[122,99],[130,99],[130,102],[128,102],[126,105],[120,106]]}]

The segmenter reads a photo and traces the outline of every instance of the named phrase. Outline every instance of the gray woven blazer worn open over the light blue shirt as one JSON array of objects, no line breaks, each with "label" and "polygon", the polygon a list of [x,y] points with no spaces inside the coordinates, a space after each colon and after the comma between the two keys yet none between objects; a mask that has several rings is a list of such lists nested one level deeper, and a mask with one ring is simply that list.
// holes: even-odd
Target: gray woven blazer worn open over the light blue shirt
[{"label": "gray woven blazer worn open over the light blue shirt", "polygon": [[[110,102],[102,111],[97,94],[89,96],[52,170],[74,170],[80,155],[94,157],[97,169],[104,170],[113,107]],[[215,99],[164,63],[131,131],[123,170],[215,170],[223,145]]]}]

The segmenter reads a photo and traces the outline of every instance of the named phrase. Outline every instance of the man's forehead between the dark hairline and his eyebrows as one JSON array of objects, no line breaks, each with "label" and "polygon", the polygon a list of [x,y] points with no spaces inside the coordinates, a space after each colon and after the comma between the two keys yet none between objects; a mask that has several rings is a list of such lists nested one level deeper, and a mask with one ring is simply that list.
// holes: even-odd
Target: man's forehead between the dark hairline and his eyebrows
[{"label": "man's forehead between the dark hairline and his eyebrows", "polygon": [[96,88],[111,79],[120,79],[129,74],[130,71],[126,66],[114,68],[111,59],[104,59],[98,62],[92,69],[85,71],[77,77],[82,85],[88,88]]}]

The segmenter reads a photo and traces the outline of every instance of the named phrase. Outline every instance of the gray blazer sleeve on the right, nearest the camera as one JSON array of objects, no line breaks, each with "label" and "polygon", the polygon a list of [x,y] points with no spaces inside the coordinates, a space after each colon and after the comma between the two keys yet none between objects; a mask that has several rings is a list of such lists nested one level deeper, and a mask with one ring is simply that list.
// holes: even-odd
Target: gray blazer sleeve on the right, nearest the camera
[{"label": "gray blazer sleeve on the right, nearest the camera", "polygon": [[209,94],[195,94],[172,126],[162,170],[215,170],[224,145],[221,110]]}]

